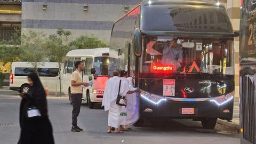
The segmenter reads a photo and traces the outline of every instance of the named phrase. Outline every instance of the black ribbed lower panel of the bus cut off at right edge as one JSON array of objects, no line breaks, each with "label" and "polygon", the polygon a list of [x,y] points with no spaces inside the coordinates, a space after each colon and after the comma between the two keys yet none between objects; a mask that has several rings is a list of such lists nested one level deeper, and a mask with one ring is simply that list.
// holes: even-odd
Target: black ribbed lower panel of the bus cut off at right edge
[{"label": "black ribbed lower panel of the bus cut off at right edge", "polygon": [[[254,79],[254,77],[251,77]],[[255,81],[250,77],[243,76],[242,81],[242,124],[243,138],[251,143],[256,143],[255,135]]]}]

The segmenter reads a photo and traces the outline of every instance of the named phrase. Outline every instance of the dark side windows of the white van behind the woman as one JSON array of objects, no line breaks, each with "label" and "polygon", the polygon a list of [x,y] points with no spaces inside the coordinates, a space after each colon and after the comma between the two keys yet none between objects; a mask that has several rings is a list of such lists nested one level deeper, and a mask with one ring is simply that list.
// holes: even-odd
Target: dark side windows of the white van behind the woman
[{"label": "dark side windows of the white van behind the woman", "polygon": [[[15,68],[15,76],[28,76],[29,73],[34,72],[34,68]],[[39,76],[55,77],[58,76],[58,68],[38,68]]]}]

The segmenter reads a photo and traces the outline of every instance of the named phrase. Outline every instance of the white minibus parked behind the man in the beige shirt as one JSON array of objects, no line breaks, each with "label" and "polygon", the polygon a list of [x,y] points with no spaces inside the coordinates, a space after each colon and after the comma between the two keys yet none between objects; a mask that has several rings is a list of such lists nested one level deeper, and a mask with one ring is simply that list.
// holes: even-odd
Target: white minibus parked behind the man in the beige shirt
[{"label": "white minibus parked behind the man in the beige shirt", "polygon": [[[83,100],[89,104],[89,108],[94,108],[95,102],[102,102],[103,93],[108,79],[108,67],[115,65],[109,63],[109,48],[78,49],[71,50],[66,54],[63,68],[63,92],[69,96],[70,100],[70,79],[71,74],[76,70],[75,62],[81,60],[84,63],[83,81],[93,81],[93,84],[83,89]],[[114,63],[115,62],[115,63]]]}]

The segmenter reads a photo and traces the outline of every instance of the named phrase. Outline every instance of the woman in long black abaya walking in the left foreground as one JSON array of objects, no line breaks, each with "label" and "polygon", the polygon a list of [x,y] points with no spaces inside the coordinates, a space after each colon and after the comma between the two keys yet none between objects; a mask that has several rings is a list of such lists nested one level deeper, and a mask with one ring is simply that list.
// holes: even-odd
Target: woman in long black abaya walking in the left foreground
[{"label": "woman in long black abaya walking in the left foreground", "polygon": [[[29,91],[20,93],[20,140],[18,144],[54,144],[52,125],[47,114],[47,100],[44,87],[36,73],[28,75]],[[39,115],[29,117],[27,110],[35,106]]]}]

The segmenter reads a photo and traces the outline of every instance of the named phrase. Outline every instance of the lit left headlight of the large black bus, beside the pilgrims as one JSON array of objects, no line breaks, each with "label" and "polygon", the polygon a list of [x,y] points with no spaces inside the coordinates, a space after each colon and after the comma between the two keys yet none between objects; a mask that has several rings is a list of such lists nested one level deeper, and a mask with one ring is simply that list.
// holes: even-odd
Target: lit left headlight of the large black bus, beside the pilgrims
[{"label": "lit left headlight of the large black bus, beside the pilgrims", "polygon": [[155,105],[158,105],[162,101],[166,101],[166,99],[163,96],[150,94],[150,93],[143,92],[143,91],[140,92],[140,97],[155,104]]}]

